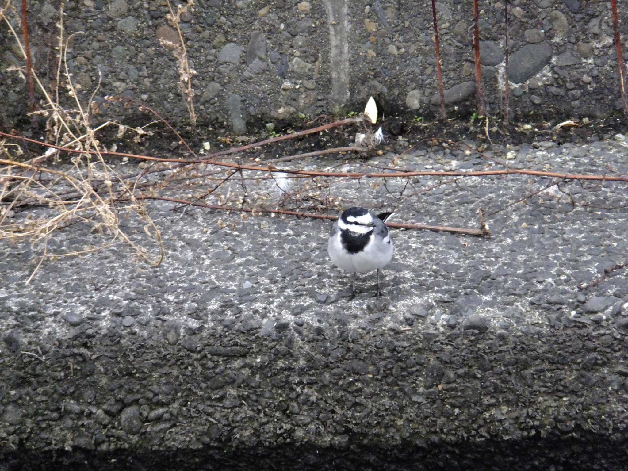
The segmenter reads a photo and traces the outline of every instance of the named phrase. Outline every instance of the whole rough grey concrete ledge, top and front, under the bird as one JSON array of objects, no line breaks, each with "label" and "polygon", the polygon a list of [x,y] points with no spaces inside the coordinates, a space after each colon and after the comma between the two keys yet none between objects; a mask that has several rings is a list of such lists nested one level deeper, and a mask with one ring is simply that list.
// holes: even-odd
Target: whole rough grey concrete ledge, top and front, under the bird
[{"label": "whole rough grey concrete ledge, top and front, under the bird", "polygon": [[[620,134],[488,153],[628,174]],[[441,146],[379,159],[502,168]],[[374,273],[350,298],[320,220],[153,201],[158,268],[116,243],[28,286],[42,247],[0,246],[0,469],[625,469],[627,183],[477,176],[397,199],[449,180],[330,191],[398,207],[392,222],[477,227],[487,211],[490,238],[393,229],[379,299]],[[143,240],[143,223],[123,227]],[[104,240],[75,224],[48,252]]]}]

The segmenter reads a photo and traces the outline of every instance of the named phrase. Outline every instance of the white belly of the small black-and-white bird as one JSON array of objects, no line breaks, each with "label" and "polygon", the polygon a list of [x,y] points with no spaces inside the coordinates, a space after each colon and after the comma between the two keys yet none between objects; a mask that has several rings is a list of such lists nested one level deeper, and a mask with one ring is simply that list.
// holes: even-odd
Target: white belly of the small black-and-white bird
[{"label": "white belly of the small black-and-white bird", "polygon": [[350,254],[342,246],[340,232],[338,232],[329,239],[327,246],[332,263],[349,273],[366,273],[377,268],[384,268],[393,258],[393,241],[390,244],[386,242],[374,244],[373,237],[371,236],[371,242],[362,252]]}]

